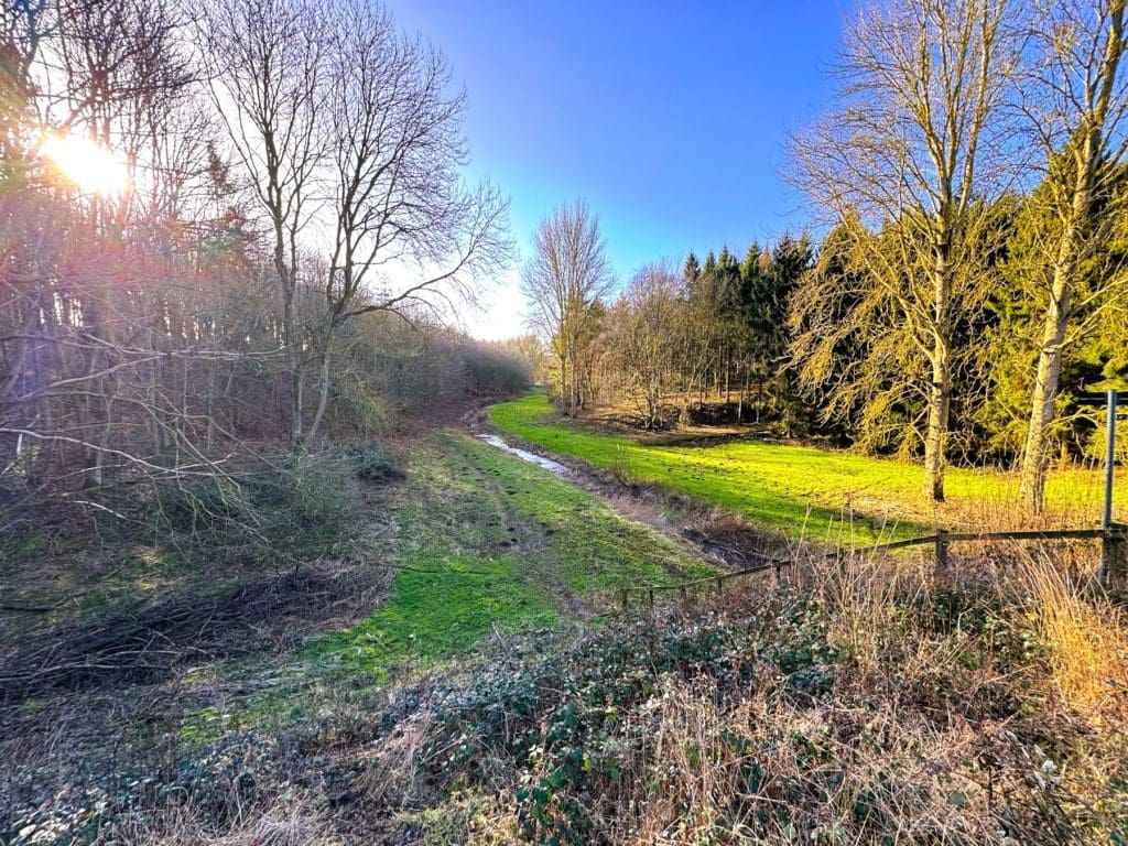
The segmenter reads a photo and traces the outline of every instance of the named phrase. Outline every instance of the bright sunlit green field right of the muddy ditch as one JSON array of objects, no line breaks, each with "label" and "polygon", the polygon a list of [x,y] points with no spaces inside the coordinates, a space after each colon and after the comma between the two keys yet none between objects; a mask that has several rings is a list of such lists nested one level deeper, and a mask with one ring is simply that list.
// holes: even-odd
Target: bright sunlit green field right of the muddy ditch
[{"label": "bright sunlit green field right of the muddy ditch", "polygon": [[[547,397],[532,394],[492,406],[490,420],[550,452],[602,468],[626,467],[640,482],[690,494],[793,537],[865,544],[935,526],[1023,522],[1015,508],[1017,479],[1010,474],[950,469],[948,502],[932,504],[919,493],[923,469],[906,461],[755,440],[707,447],[642,444],[561,421],[549,411]],[[1122,474],[1118,486],[1117,513],[1128,519]],[[1056,473],[1047,490],[1052,511],[1047,519],[1055,525],[1095,523],[1100,497],[1100,473]]]}]

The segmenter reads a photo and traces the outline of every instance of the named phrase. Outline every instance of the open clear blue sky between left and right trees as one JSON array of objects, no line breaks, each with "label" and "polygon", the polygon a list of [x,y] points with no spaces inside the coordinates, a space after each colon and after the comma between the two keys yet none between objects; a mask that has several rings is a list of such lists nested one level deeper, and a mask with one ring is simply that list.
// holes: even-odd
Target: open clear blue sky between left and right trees
[{"label": "open clear blue sky between left and right trees", "polygon": [[[388,0],[467,89],[472,176],[511,197],[528,255],[538,219],[583,197],[622,280],[655,258],[801,229],[778,177],[787,132],[826,102],[848,0]],[[514,274],[483,336],[521,329]]]}]

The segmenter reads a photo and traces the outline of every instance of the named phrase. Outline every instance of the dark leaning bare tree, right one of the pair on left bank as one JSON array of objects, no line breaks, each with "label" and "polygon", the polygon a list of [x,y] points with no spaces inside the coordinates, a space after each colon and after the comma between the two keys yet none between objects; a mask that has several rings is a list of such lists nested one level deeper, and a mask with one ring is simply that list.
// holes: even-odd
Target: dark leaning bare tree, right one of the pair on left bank
[{"label": "dark leaning bare tree, right one of the pair on left bank", "polygon": [[[466,98],[448,94],[443,56],[364,0],[342,0],[327,20],[324,178],[333,245],[310,437],[325,414],[334,335],[345,321],[473,301],[476,283],[512,252],[508,202],[488,183],[468,190],[459,176]],[[399,285],[397,272],[407,279]]]}]

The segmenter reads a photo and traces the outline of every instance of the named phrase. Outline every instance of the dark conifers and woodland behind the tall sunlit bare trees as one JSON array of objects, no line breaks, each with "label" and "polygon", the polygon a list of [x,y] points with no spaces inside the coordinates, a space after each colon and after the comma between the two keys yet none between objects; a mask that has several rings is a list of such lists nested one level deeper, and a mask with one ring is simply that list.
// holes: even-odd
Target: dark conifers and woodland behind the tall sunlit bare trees
[{"label": "dark conifers and woodland behind the tall sunlit bare trees", "polygon": [[[1029,285],[1016,270],[1029,244],[1019,229],[1025,202],[1015,196],[1001,203],[999,226],[1008,235],[993,256],[997,287],[960,331],[966,346],[953,397],[952,458],[961,464],[1010,467],[1022,455],[1037,316],[1023,301]],[[918,458],[925,403],[914,396],[914,382],[920,374],[893,370],[865,386],[848,385],[856,369],[887,362],[870,358],[869,329],[879,327],[846,319],[862,280],[848,277],[845,226],[819,247],[807,233],[784,235],[768,246],[754,241],[739,262],[723,246],[704,262],[690,252],[681,267],[656,263],[636,272],[623,292],[591,307],[578,412],[626,402],[645,429],[757,422],[788,438]],[[1110,255],[1096,264],[1117,266],[1125,246],[1107,245]],[[1105,317],[1064,355],[1059,462],[1104,455],[1104,409],[1081,405],[1078,397],[1128,387],[1128,331],[1112,310]],[[561,411],[571,413],[565,370],[556,363],[545,372]],[[1118,456],[1126,455],[1121,432]]]}]

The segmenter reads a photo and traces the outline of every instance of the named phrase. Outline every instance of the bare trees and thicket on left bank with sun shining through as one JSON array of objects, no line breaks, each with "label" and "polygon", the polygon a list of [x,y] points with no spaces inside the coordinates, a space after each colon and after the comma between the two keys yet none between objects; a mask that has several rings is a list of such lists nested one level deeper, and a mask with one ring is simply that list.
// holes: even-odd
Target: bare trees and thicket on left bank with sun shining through
[{"label": "bare trees and thicket on left bank with sun shining through", "polygon": [[433,393],[435,317],[509,259],[438,51],[314,0],[6,5],[0,39],[3,514]]}]

